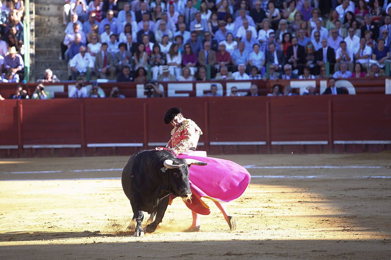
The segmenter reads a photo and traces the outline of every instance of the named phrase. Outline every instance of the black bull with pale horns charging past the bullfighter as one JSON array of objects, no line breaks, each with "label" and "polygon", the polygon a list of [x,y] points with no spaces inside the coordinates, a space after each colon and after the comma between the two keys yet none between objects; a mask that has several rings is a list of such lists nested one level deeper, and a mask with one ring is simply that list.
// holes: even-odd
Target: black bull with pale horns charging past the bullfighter
[{"label": "black bull with pale horns charging past the bullfighter", "polygon": [[151,214],[153,222],[145,232],[154,232],[163,219],[169,203],[169,195],[190,199],[190,164],[206,165],[194,159],[179,159],[166,150],[141,150],[133,154],[122,170],[122,189],[130,201],[133,218],[128,228],[135,236],[144,235],[143,211]]}]

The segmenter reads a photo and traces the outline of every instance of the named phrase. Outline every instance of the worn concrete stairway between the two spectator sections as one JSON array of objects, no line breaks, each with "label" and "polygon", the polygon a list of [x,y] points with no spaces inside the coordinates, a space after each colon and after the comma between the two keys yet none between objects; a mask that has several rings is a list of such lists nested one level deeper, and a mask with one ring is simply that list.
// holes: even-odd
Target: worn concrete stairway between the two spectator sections
[{"label": "worn concrete stairway between the two spectator sections", "polygon": [[60,80],[67,80],[66,62],[59,60],[61,42],[64,39],[64,0],[34,0],[34,62],[31,79],[36,80],[50,68]]}]

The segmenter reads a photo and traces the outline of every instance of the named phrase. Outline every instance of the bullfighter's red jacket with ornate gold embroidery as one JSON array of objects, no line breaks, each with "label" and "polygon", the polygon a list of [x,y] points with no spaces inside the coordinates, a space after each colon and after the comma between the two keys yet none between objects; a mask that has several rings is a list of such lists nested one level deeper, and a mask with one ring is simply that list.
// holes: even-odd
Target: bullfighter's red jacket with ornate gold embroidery
[{"label": "bullfighter's red jacket with ornate gold embroidery", "polygon": [[201,129],[193,120],[183,120],[181,126],[171,130],[171,138],[166,147],[170,147],[176,154],[180,154],[188,151],[191,147],[195,148],[201,134]]}]

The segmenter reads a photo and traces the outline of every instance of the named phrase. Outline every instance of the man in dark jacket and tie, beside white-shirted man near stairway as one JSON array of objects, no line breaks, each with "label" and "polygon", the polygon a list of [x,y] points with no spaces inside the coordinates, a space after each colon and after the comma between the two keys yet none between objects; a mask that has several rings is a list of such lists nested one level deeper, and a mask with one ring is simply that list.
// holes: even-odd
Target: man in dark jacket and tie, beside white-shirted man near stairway
[{"label": "man in dark jacket and tie, beside white-shirted man near stairway", "polygon": [[113,56],[107,51],[107,43],[103,42],[100,47],[100,52],[95,55],[95,71],[99,78],[114,79],[115,67]]}]

